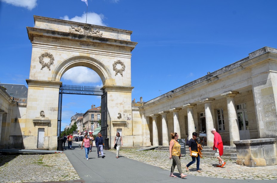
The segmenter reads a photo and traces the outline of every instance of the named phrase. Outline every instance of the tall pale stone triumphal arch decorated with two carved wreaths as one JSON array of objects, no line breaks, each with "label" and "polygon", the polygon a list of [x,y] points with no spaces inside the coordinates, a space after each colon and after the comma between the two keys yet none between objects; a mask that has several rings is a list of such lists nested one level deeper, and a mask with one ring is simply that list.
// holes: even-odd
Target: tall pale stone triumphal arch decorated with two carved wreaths
[{"label": "tall pale stone triumphal arch decorated with two carved wreaths", "polygon": [[132,134],[131,51],[137,44],[130,39],[132,32],[40,16],[34,20],[35,26],[27,27],[32,58],[26,80],[24,148],[57,148],[60,79],[76,66],[93,69],[103,82],[107,137],[111,140],[121,126],[124,143],[133,146],[133,139],[128,139]]}]

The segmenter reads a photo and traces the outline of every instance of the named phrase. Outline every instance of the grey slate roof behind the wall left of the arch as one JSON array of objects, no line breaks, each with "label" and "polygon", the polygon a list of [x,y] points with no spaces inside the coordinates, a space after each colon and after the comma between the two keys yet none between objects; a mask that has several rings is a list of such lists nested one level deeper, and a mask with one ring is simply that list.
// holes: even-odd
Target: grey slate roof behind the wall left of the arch
[{"label": "grey slate roof behind the wall left of the arch", "polygon": [[28,96],[28,88],[25,85],[0,83],[0,86],[5,87],[10,96],[24,98]]}]

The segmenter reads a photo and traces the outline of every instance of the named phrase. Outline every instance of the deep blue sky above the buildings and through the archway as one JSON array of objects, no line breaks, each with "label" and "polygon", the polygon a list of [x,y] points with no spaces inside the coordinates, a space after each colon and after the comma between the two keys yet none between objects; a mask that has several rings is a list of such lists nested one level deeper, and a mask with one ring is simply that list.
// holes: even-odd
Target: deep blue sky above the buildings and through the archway
[{"label": "deep blue sky above the buildings and through the archway", "polygon": [[[264,46],[277,48],[276,7],[275,0],[88,0],[87,23],[133,31],[132,99],[149,101]],[[0,82],[27,86],[33,15],[85,22],[86,9],[81,0],[0,0]],[[102,85],[94,71],[74,69],[64,84]],[[64,95],[62,129],[92,104],[100,98]]]}]

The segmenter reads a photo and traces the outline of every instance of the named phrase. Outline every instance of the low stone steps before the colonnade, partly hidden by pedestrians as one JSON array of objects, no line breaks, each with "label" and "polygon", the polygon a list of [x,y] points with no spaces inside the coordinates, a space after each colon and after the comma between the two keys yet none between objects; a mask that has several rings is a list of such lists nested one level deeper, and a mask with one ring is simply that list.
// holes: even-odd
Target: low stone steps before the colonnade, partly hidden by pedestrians
[{"label": "low stone steps before the colonnade, partly hidden by pedestrians", "polygon": [[[202,154],[204,157],[214,157],[214,151],[213,147],[207,147],[202,146]],[[231,146],[223,146],[224,153],[222,156],[222,159],[231,159],[236,160],[237,159],[237,150],[236,147]],[[158,148],[155,148],[156,151],[168,151],[169,152],[169,146],[158,146]],[[190,154],[189,146],[186,146],[186,155]]]}]

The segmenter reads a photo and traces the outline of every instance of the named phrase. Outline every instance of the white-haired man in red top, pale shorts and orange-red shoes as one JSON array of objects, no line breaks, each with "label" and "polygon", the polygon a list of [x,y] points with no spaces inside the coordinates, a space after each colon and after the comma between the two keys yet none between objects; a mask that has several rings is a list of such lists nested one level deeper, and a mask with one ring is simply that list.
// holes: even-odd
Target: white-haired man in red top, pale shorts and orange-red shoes
[{"label": "white-haired man in red top, pale shorts and orange-red shoes", "polygon": [[215,150],[215,157],[218,159],[219,164],[216,165],[217,167],[224,167],[226,162],[224,162],[221,159],[221,156],[223,155],[223,142],[221,139],[221,135],[216,132],[216,129],[211,129],[212,134],[214,135],[213,138],[213,150]]}]

